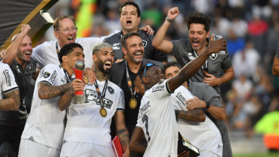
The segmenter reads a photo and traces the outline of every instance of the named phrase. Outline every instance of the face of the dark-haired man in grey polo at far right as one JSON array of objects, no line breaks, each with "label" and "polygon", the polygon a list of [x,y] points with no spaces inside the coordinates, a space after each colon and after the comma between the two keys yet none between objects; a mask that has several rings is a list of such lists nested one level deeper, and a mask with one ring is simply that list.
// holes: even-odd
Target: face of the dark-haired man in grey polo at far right
[{"label": "face of the dark-haired man in grey polo at far right", "polygon": [[205,25],[200,23],[191,23],[189,29],[189,40],[192,48],[200,54],[206,49],[209,31],[206,32]]}]

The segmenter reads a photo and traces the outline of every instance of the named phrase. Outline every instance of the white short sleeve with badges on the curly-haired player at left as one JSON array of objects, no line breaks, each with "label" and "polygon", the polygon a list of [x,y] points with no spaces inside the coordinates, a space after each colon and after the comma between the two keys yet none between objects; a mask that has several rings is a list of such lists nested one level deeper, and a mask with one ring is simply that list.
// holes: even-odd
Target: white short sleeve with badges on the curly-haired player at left
[{"label": "white short sleeve with badges on the curly-haired player at left", "polygon": [[58,75],[58,66],[53,65],[53,64],[49,64],[46,67],[44,67],[39,74],[39,77],[37,79],[39,79],[39,83],[40,82],[46,82],[50,85],[53,85],[55,80],[57,80],[57,75]]}]

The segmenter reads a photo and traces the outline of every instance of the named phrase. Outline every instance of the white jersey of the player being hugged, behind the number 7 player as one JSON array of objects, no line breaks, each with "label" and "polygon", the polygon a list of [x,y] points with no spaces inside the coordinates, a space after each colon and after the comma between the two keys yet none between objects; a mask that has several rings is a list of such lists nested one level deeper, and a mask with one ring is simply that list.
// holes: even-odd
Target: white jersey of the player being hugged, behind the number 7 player
[{"label": "white jersey of the player being hugged, behind the number 7 player", "polygon": [[[177,88],[171,94],[171,97],[175,110],[184,111],[187,111],[185,102],[194,98],[192,93],[184,86]],[[200,154],[223,146],[218,128],[207,115],[204,122],[189,122],[178,118],[177,127],[182,136],[188,139],[195,147],[199,148]]]}]

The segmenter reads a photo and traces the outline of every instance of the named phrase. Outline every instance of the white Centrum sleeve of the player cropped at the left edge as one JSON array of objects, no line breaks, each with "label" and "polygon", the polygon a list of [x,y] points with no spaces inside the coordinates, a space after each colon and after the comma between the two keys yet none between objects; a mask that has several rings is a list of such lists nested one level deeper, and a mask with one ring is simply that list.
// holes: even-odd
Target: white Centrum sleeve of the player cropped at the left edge
[{"label": "white Centrum sleeve of the player cropped at the left edge", "polygon": [[15,76],[8,64],[0,62],[0,100],[4,94],[18,89]]}]

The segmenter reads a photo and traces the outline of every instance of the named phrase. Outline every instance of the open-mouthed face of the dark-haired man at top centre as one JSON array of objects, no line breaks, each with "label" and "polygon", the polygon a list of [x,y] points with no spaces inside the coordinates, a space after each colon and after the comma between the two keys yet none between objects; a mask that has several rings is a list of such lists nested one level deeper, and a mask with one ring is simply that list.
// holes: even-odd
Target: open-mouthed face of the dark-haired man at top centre
[{"label": "open-mouthed face of the dark-haired man at top centre", "polygon": [[138,31],[140,17],[138,17],[137,8],[135,6],[125,5],[122,8],[122,13],[120,15],[119,22],[124,34],[131,31]]}]

